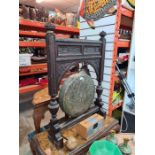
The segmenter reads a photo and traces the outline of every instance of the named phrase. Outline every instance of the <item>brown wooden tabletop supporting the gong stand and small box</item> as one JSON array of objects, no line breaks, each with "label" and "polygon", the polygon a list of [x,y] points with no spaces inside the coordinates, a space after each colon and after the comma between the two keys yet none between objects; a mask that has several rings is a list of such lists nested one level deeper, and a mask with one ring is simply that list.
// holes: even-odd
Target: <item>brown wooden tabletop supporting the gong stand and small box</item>
[{"label": "brown wooden tabletop supporting the gong stand and small box", "polygon": [[104,121],[103,129],[88,140],[85,140],[76,133],[76,125],[63,130],[61,133],[63,137],[66,139],[68,137],[74,137],[77,141],[77,147],[72,151],[69,151],[65,145],[62,149],[56,149],[48,138],[48,131],[36,134],[30,141],[30,146],[34,155],[83,155],[88,151],[92,142],[105,137],[112,129],[118,132],[120,126],[117,120],[107,116]]}]

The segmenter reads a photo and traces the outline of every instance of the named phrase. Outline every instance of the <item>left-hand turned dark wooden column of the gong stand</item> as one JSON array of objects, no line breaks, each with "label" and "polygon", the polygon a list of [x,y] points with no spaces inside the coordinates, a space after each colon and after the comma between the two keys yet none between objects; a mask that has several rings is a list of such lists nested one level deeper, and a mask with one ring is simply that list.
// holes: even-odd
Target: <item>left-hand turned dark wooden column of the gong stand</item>
[{"label": "left-hand turned dark wooden column of the gong stand", "polygon": [[57,119],[59,104],[57,101],[57,83],[56,83],[56,51],[55,51],[55,26],[46,24],[46,47],[48,55],[48,89],[51,101],[48,105],[51,113],[49,139],[57,148],[63,147],[63,138],[60,135],[60,127]]}]

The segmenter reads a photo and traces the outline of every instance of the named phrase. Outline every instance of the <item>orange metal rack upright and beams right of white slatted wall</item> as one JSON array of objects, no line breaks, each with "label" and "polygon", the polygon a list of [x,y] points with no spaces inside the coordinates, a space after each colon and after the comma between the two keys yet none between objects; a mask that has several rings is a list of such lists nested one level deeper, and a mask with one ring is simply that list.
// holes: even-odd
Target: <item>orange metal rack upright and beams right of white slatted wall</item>
[{"label": "orange metal rack upright and beams right of white slatted wall", "polygon": [[113,49],[113,62],[112,62],[112,70],[111,70],[111,85],[110,85],[110,95],[109,95],[109,105],[108,105],[108,114],[112,116],[112,112],[117,108],[123,105],[123,101],[113,105],[113,91],[115,81],[118,80],[118,77],[115,72],[115,65],[117,59],[118,48],[130,48],[130,40],[121,40],[119,39],[119,29],[120,27],[127,27],[126,22],[123,22],[123,18],[127,17],[133,20],[134,11],[131,11],[121,5],[121,0],[117,1],[117,13],[116,13],[116,24],[115,24],[115,37],[114,37],[114,49]]}]

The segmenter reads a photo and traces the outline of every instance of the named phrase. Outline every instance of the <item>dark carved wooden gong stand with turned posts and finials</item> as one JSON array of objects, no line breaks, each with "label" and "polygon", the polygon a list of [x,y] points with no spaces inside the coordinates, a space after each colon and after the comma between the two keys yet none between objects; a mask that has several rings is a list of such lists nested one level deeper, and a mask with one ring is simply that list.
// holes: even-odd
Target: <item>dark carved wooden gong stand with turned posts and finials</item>
[{"label": "dark carved wooden gong stand with turned posts and finials", "polygon": [[[48,105],[51,113],[49,138],[57,148],[62,148],[63,138],[60,134],[62,129],[72,126],[94,113],[100,113],[102,116],[106,116],[101,98],[103,91],[101,83],[104,72],[106,33],[103,31],[100,33],[101,38],[99,41],[56,39],[53,32],[55,27],[51,24],[46,24],[45,27],[47,31],[48,87],[49,95],[52,98]],[[86,69],[88,69],[86,65],[90,64],[96,72],[98,86],[96,88],[97,98],[95,106],[76,118],[65,116],[62,119],[57,119],[57,112],[59,109],[57,94],[60,81],[65,72],[78,63],[84,63]]]}]

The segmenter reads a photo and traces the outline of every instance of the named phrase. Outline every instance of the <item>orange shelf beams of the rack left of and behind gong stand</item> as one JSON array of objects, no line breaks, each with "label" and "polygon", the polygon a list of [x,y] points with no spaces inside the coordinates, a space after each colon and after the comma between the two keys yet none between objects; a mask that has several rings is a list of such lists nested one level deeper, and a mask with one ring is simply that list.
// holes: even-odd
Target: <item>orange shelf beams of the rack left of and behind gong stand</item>
[{"label": "orange shelf beams of the rack left of and behind gong stand", "polygon": [[[19,36],[45,38],[45,23],[32,21],[27,19],[19,20]],[[70,38],[72,36],[79,36],[79,29],[75,27],[58,26],[55,25],[55,33],[58,38]],[[19,41],[19,47],[39,47],[45,48],[45,41]],[[21,67],[20,67],[21,68]],[[20,70],[19,68],[19,70]],[[27,73],[19,73],[20,77],[30,76],[36,74],[47,73],[47,63],[32,64],[31,66],[22,67],[28,69]],[[19,88],[19,93],[27,93],[34,90],[39,90],[47,85],[29,85]]]}]

